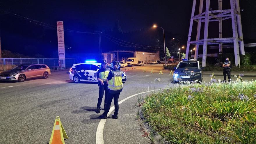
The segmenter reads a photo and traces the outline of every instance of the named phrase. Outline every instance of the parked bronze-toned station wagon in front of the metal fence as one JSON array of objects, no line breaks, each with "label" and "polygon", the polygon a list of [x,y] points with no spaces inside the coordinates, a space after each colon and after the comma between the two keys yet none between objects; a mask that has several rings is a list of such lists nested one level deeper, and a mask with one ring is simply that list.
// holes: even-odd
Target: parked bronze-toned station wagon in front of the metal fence
[{"label": "parked bronze-toned station wagon in front of the metal fence", "polygon": [[0,73],[1,81],[19,81],[23,82],[26,79],[42,77],[47,79],[51,74],[51,70],[47,65],[32,64],[32,65],[17,65],[11,70]]}]

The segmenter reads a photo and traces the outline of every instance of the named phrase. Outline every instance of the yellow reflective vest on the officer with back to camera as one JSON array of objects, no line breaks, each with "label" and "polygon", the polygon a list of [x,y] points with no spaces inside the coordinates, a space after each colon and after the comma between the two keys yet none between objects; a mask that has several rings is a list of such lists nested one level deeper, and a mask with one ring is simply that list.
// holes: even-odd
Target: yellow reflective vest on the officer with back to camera
[{"label": "yellow reflective vest on the officer with back to camera", "polygon": [[119,70],[111,71],[112,79],[109,80],[108,89],[110,90],[121,90],[123,88],[122,83],[122,72]]}]

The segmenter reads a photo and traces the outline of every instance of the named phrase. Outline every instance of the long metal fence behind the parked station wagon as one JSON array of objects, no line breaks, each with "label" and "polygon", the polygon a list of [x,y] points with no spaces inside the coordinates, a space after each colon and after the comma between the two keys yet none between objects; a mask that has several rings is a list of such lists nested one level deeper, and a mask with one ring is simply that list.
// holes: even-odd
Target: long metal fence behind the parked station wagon
[{"label": "long metal fence behind the parked station wagon", "polygon": [[72,67],[75,63],[79,63],[75,58],[0,58],[0,70],[9,70],[22,64],[46,64],[51,70],[57,70]]}]

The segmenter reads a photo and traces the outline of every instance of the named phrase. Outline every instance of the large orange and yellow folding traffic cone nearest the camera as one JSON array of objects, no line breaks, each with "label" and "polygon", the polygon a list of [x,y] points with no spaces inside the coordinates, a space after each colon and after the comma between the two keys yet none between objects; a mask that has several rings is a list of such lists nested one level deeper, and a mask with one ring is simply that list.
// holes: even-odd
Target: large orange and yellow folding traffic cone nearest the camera
[{"label": "large orange and yellow folding traffic cone nearest the camera", "polygon": [[64,138],[68,139],[66,131],[61,124],[60,117],[57,116],[51,132],[49,144],[65,144]]}]

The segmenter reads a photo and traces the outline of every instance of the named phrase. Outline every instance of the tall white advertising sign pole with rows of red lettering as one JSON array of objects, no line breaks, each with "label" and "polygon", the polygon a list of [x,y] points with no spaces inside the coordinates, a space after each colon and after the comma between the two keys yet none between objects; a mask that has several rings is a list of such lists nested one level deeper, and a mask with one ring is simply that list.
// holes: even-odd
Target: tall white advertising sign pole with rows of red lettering
[{"label": "tall white advertising sign pole with rows of red lettering", "polygon": [[63,21],[57,22],[59,67],[65,68],[65,43]]}]

